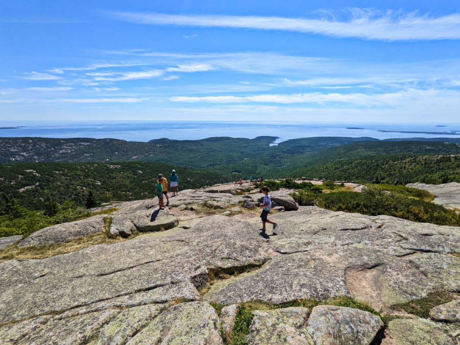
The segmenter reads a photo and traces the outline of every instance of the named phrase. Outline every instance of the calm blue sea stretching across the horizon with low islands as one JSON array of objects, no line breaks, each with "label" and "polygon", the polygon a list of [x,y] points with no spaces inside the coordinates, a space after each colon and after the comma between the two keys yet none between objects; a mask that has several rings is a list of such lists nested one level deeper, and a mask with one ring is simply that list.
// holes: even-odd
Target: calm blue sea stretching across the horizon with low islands
[{"label": "calm blue sea stretching across the horizon with low islands", "polygon": [[[412,132],[412,133],[408,133]],[[414,133],[416,132],[416,133]],[[321,122],[208,122],[208,121],[0,121],[0,137],[90,137],[147,142],[166,137],[196,140],[212,136],[254,138],[278,136],[277,143],[312,136],[459,137],[460,124],[321,123]]]}]

